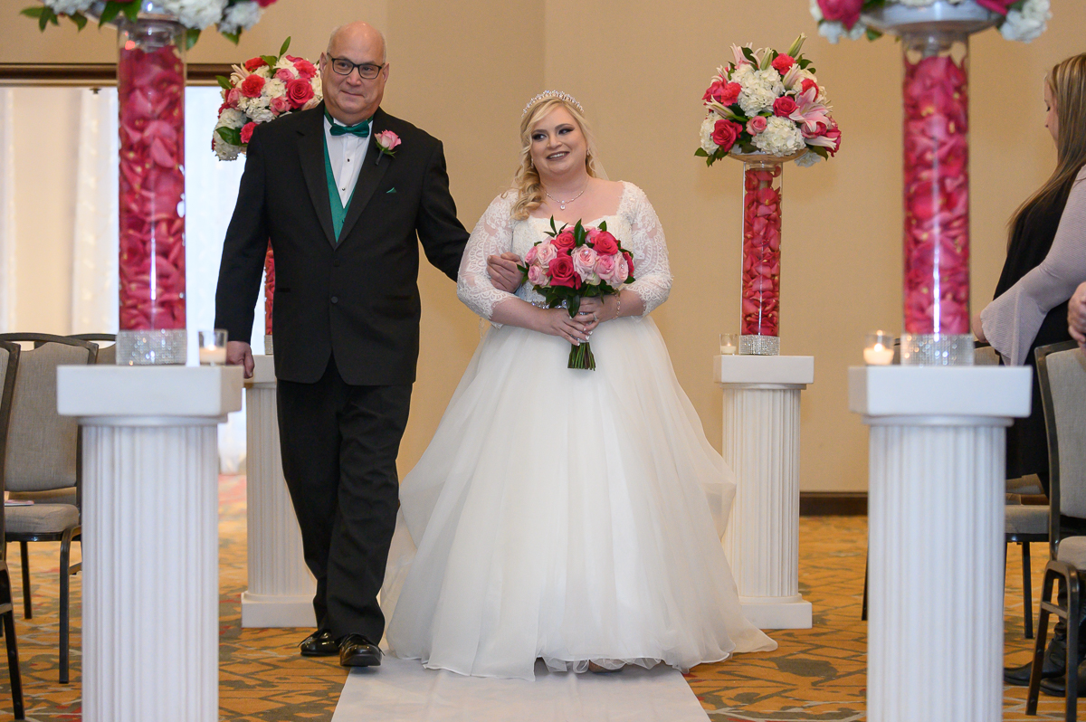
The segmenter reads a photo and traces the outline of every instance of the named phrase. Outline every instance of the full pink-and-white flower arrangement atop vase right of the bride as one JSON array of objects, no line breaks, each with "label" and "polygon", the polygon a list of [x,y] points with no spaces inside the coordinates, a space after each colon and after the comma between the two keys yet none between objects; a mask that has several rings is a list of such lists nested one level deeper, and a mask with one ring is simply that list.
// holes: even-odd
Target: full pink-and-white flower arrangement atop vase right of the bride
[{"label": "full pink-and-white flower arrangement atop vase right of the bride", "polygon": [[734,60],[717,68],[702,98],[708,115],[694,155],[712,165],[729,153],[803,153],[796,163],[813,165],[837,152],[841,130],[825,90],[799,52],[806,39],[800,35],[784,53],[732,46]]}]

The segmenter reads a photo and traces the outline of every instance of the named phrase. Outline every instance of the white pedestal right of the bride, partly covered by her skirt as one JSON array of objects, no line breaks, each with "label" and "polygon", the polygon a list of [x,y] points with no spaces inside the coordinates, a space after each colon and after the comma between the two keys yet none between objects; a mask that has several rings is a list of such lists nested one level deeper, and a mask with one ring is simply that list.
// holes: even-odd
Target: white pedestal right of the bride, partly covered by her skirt
[{"label": "white pedestal right of the bride, partly covered by her skirt", "polygon": [[724,552],[743,613],[763,630],[810,629],[799,594],[799,392],[813,356],[717,356],[724,391],[724,461],[735,503]]}]

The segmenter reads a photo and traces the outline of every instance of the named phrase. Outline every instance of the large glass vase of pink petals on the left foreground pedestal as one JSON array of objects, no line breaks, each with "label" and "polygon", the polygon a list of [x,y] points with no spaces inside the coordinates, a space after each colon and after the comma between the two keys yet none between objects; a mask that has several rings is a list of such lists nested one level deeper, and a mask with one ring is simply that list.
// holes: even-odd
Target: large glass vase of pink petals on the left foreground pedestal
[{"label": "large glass vase of pink petals on the left foreground pedestal", "polygon": [[141,13],[117,38],[117,364],[184,364],[186,30]]}]

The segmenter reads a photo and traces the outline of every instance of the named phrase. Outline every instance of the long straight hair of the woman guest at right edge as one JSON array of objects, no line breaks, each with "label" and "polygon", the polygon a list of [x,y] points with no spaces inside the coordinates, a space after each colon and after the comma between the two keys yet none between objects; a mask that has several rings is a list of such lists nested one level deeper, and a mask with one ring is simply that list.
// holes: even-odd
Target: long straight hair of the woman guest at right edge
[{"label": "long straight hair of the woman guest at right edge", "polygon": [[1086,165],[1086,53],[1057,63],[1045,83],[1056,101],[1056,170],[1011,216],[1008,245],[1033,213],[1066,203],[1075,176]]}]

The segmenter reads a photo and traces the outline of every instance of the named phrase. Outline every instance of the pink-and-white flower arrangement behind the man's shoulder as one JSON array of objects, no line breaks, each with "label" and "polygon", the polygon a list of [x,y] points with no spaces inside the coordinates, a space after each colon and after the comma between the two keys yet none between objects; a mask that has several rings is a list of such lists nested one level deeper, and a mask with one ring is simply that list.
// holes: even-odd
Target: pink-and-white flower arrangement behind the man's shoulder
[{"label": "pink-and-white flower arrangement behind the man's shoulder", "polygon": [[278,55],[251,58],[235,65],[230,77],[216,78],[223,88],[223,104],[212,135],[212,150],[220,160],[232,161],[244,153],[258,124],[320,103],[320,74],[316,65],[304,58],[288,55],[288,48],[290,38],[279,48]]}]

